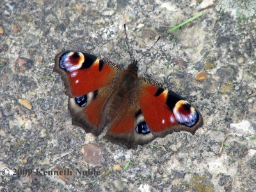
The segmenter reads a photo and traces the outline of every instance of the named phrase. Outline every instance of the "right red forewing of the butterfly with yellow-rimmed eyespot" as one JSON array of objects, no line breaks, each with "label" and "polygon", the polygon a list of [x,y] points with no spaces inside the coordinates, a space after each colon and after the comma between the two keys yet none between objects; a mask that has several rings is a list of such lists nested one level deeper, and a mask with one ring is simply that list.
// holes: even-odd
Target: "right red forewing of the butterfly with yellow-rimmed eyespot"
[{"label": "right red forewing of the butterfly with yellow-rimmed eyespot", "polygon": [[195,131],[202,127],[202,115],[180,95],[150,79],[139,78],[138,102],[145,122],[154,136]]}]

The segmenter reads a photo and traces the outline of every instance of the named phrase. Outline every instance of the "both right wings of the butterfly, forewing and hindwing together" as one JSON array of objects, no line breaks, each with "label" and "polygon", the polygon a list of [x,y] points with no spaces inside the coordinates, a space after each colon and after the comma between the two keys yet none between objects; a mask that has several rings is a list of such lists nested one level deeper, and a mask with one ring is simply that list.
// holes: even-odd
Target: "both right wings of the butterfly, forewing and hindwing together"
[{"label": "both right wings of the butterfly, forewing and hindwing together", "polygon": [[[128,148],[175,131],[195,134],[203,125],[202,116],[188,101],[150,79],[138,78],[126,96],[122,98],[125,103],[117,104],[122,108],[112,118],[106,138],[124,143]],[[114,96],[113,100],[118,99]],[[109,108],[111,111],[112,107]]]}]

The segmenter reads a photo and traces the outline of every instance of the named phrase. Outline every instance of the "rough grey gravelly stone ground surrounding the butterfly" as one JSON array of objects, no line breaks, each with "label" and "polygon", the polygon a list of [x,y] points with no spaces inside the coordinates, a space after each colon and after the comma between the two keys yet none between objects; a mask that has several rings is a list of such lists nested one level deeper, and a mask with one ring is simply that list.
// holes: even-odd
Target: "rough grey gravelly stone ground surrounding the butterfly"
[{"label": "rough grey gravelly stone ground surrounding the butterfly", "polygon": [[[0,175],[1,191],[256,191],[256,140],[228,136],[218,155],[230,124],[248,120],[256,127],[256,3],[200,6],[195,0],[1,1],[0,168],[10,170]],[[200,110],[204,127],[194,136],[178,132],[127,149],[71,124],[63,81],[52,72],[54,56],[86,51],[125,68],[124,22],[134,58],[162,36],[140,61],[139,75]],[[207,79],[196,81],[201,71]],[[95,143],[102,161],[92,166],[83,147]],[[88,166],[100,174],[36,174]],[[25,172],[13,175],[13,169]]]}]

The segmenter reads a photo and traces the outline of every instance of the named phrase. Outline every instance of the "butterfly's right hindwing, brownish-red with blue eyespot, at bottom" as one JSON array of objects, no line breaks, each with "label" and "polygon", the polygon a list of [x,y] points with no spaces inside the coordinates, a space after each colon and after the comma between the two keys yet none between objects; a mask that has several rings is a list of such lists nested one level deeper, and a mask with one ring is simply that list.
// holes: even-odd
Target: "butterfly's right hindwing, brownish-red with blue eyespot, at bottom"
[{"label": "butterfly's right hindwing, brownish-red with blue eyespot, at bottom", "polygon": [[118,113],[115,113],[116,110],[109,106],[110,116],[113,117],[109,122],[105,138],[124,143],[128,148],[136,144],[148,143],[156,138],[149,131],[141,113],[137,88],[133,88],[128,95],[125,95],[120,103],[116,103],[118,99],[115,95],[112,100],[111,104],[117,105],[119,109]]}]

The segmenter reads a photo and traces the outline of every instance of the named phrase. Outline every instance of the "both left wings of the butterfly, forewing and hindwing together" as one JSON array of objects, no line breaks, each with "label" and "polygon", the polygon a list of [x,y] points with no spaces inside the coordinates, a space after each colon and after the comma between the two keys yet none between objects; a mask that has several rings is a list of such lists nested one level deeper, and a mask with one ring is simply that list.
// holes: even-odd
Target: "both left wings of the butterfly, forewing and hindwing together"
[{"label": "both left wings of the butterfly, forewing and hindwing together", "polygon": [[108,118],[109,99],[122,68],[84,52],[64,51],[55,57],[54,71],[64,80],[72,124],[99,135]]}]

